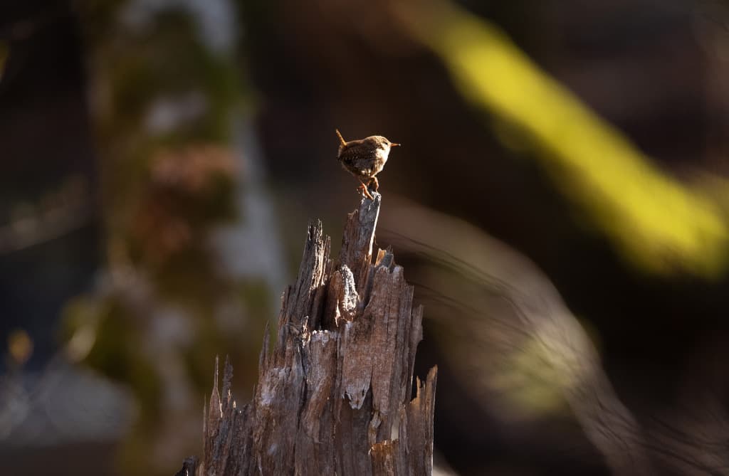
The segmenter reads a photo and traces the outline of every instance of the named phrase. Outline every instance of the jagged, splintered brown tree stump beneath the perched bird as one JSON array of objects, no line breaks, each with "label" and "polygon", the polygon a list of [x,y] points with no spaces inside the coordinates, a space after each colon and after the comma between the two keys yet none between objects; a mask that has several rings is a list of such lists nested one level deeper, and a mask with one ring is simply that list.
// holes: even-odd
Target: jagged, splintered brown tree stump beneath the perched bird
[{"label": "jagged, splintered brown tree stump beneath the perched bird", "polygon": [[309,226],[272,351],[266,329],[252,402],[236,405],[228,362],[220,396],[216,360],[195,474],[431,474],[437,370],[418,379],[411,400],[423,310],[413,310],[413,287],[390,251],[372,263],[373,195],[349,214],[336,263],[321,222]]}]

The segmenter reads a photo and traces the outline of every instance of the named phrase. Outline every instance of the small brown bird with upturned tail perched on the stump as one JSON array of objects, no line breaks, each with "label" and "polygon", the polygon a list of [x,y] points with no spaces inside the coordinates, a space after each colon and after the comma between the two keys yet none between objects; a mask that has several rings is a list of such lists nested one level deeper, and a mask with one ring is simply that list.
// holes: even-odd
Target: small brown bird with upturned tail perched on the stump
[{"label": "small brown bird with upturned tail perched on the stump", "polygon": [[335,129],[335,132],[340,141],[337,160],[346,171],[359,180],[360,185],[357,190],[362,190],[362,193],[372,200],[370,184],[374,182],[375,192],[377,192],[380,183],[375,175],[380,173],[385,166],[387,156],[390,154],[390,147],[400,144],[394,144],[383,136],[370,136],[347,142],[339,130]]}]

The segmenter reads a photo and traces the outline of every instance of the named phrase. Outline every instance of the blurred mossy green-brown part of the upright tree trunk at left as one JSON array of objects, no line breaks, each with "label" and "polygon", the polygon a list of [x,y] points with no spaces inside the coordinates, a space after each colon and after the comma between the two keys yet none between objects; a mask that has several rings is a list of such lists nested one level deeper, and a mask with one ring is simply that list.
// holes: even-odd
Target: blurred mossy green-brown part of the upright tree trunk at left
[{"label": "blurred mossy green-brown part of the upright tree trunk at left", "polygon": [[132,1],[77,7],[107,263],[98,290],[67,306],[63,338],[69,355],[127,384],[137,399],[122,471],[169,474],[199,453],[195,415],[213,357],[229,353],[236,383],[250,388],[272,312],[263,281],[223,272],[211,246],[221,225],[245,219],[232,132],[249,93],[235,52],[211,48],[189,10],[149,10],[135,23]]}]

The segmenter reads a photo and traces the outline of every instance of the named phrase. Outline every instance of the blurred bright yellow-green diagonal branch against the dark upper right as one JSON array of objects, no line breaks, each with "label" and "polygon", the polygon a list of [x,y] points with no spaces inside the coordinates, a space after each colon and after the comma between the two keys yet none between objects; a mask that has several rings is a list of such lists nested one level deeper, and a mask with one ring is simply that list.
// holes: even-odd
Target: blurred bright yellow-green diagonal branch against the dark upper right
[{"label": "blurred bright yellow-green diagonal branch against the dark upper right", "polygon": [[445,6],[429,21],[408,20],[468,101],[526,133],[561,189],[625,257],[658,273],[725,270],[728,226],[712,200],[658,170],[499,29]]}]

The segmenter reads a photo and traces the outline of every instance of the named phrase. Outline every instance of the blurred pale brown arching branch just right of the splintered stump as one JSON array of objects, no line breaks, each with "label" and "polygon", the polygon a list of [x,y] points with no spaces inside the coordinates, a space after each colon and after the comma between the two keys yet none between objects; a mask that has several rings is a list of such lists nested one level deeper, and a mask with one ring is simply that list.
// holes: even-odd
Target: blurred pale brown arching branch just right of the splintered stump
[{"label": "blurred pale brown arching branch just right of the splintered stump", "polygon": [[444,363],[461,372],[469,395],[512,425],[555,414],[566,401],[614,474],[653,474],[643,429],[612,388],[597,349],[529,260],[418,206],[394,208],[382,225],[399,253],[419,258],[408,267],[422,276],[417,297]]}]

